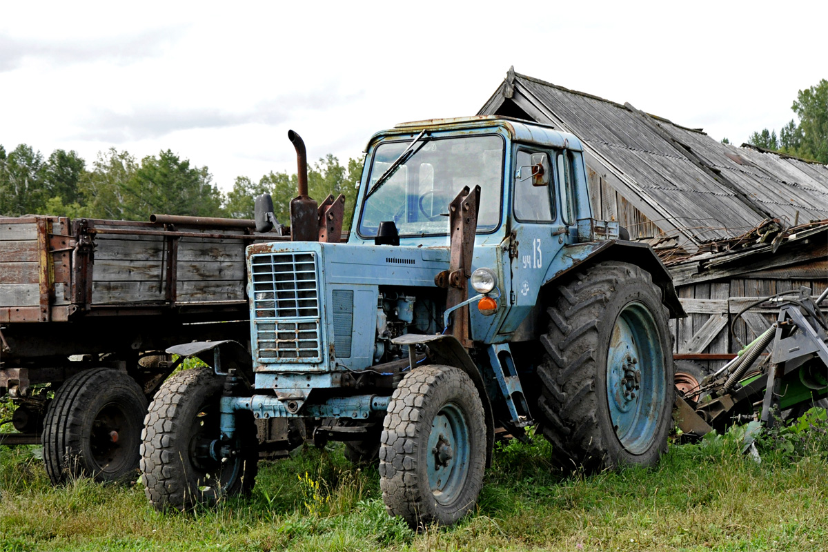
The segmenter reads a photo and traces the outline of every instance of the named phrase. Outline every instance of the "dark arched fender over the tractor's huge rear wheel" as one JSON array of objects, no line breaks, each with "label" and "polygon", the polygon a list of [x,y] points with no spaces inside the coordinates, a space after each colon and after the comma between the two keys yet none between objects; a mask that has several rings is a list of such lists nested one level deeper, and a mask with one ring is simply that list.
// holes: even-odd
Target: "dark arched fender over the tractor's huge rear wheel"
[{"label": "dark arched fender over the tractor's huge rear wheel", "polygon": [[602,261],[628,262],[640,266],[652,276],[652,283],[662,290],[662,303],[670,312],[670,318],[687,316],[678,300],[672,277],[662,260],[646,243],[625,240],[606,240],[567,245],[555,256],[543,278],[543,286],[566,276],[572,269]]}]

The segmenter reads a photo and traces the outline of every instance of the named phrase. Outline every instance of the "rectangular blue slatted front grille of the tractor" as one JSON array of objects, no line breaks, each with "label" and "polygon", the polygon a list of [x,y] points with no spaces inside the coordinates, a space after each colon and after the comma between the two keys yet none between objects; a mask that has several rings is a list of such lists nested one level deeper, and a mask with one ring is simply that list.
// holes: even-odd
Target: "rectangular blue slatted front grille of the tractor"
[{"label": "rectangular blue slatted front grille of the tractor", "polygon": [[250,264],[259,360],[320,362],[320,293],[315,254],[254,255]]}]

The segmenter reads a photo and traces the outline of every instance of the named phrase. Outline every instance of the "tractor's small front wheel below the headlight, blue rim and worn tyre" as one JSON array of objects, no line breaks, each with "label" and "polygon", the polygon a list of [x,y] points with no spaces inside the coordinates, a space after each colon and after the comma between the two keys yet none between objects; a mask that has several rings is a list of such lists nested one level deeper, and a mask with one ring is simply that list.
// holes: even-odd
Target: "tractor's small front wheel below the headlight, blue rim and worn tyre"
[{"label": "tractor's small front wheel below the headlight, blue rim and worn tyre", "polygon": [[385,416],[379,484],[388,513],[409,526],[450,525],[474,507],[483,485],[486,427],[474,383],[455,367],[416,368]]}]

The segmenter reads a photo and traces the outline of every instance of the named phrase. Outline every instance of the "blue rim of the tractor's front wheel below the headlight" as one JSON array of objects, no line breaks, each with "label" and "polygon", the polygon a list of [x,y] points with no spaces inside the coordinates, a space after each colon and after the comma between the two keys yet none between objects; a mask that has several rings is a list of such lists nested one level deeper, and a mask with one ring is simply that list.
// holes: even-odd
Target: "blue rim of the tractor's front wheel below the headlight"
[{"label": "blue rim of the tractor's front wheel below the headlight", "polygon": [[445,404],[431,422],[426,450],[431,492],[440,504],[460,496],[469,467],[469,425],[463,410]]}]

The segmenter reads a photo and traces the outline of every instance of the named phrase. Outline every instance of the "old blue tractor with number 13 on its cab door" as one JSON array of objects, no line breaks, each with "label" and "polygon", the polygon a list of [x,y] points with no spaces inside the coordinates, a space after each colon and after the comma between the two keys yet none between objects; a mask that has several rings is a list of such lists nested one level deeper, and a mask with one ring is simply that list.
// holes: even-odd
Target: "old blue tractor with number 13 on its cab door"
[{"label": "old blue tractor with number 13 on its cab door", "polygon": [[169,378],[149,408],[154,506],[248,492],[262,422],[378,458],[388,512],[415,527],[474,507],[496,430],[535,425],[564,470],[657,462],[667,319],[684,313],[652,250],[592,218],[577,137],[488,116],[378,132],[347,242],[344,199],[307,196],[289,137],[299,195],[289,237],[247,249],[249,347],[170,350],[209,368]]}]

